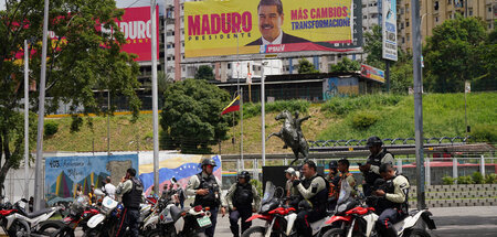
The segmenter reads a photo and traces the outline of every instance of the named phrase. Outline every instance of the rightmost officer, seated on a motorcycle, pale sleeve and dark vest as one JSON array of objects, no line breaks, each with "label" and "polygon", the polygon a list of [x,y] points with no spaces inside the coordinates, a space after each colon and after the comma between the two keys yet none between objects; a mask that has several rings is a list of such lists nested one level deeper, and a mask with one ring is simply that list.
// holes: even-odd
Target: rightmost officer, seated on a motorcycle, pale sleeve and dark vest
[{"label": "rightmost officer, seated on a motorcycle, pale sleeve and dark vest", "polygon": [[385,181],[380,190],[373,192],[378,201],[377,229],[383,237],[396,236],[393,224],[400,222],[408,214],[409,181],[403,175],[395,175],[393,165],[384,163],[380,166],[380,174]]}]

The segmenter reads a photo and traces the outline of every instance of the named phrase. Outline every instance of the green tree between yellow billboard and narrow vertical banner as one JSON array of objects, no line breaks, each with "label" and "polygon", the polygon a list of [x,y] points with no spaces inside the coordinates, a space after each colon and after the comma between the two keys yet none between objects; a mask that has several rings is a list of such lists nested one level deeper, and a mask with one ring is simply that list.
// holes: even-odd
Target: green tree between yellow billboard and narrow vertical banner
[{"label": "green tree between yellow billboard and narrow vertical banner", "polygon": [[383,60],[383,36],[381,34],[381,26],[374,24],[371,31],[364,32],[364,53],[368,54],[366,63],[370,66],[384,69]]}]

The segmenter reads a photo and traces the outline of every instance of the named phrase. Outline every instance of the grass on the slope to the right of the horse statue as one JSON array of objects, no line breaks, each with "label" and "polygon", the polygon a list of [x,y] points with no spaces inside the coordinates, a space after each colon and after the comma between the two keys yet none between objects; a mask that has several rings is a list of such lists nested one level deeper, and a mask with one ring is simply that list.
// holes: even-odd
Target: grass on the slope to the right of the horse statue
[{"label": "grass on the slope to the right of the horse statue", "polygon": [[[372,96],[368,96],[371,98]],[[366,99],[368,98],[366,97]],[[381,97],[381,96],[379,96]],[[326,118],[336,122],[322,131],[318,139],[363,139],[370,136],[380,138],[414,137],[414,99],[413,96],[399,97],[396,104],[363,103],[358,99],[342,115],[325,111]],[[373,99],[371,99],[373,100]],[[326,109],[325,109],[326,110]],[[369,129],[355,129],[352,118],[358,112],[368,110],[380,117]],[[497,94],[474,93],[467,95],[467,121],[472,127],[486,125],[497,127]],[[464,94],[433,94],[423,96],[423,132],[425,138],[465,136]],[[494,141],[495,142],[495,141]]]}]

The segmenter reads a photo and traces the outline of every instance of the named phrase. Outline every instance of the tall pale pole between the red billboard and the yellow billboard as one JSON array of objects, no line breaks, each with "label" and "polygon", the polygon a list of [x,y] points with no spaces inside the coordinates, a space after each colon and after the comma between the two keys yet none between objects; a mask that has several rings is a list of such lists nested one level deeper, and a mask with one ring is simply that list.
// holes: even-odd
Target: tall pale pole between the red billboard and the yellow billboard
[{"label": "tall pale pole between the red billboard and the yellow billboard", "polygon": [[152,123],[154,123],[154,192],[159,193],[159,109],[157,88],[157,18],[156,0],[150,4],[151,18],[151,61],[152,61]]}]

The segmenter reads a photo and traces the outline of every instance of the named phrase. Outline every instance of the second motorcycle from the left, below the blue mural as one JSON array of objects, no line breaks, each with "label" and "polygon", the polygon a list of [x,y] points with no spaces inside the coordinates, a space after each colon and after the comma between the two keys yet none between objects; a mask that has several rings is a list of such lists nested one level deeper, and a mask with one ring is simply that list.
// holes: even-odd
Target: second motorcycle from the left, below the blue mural
[{"label": "second motorcycle from the left, below the blue mural", "polygon": [[63,223],[62,228],[54,236],[74,237],[74,231],[77,227],[83,227],[83,231],[86,230],[86,223],[93,216],[99,212],[94,206],[89,206],[89,198],[87,196],[80,196],[70,206],[68,215],[61,220]]}]

